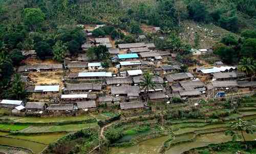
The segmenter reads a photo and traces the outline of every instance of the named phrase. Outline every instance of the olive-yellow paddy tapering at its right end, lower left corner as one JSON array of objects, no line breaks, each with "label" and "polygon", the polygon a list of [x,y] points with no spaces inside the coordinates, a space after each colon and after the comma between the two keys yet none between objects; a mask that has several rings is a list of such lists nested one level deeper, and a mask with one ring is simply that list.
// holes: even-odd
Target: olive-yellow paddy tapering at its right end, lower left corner
[{"label": "olive-yellow paddy tapering at its right end, lower left corner", "polygon": [[67,133],[51,133],[51,134],[39,134],[39,135],[8,135],[7,137],[34,141],[42,144],[49,144],[57,141],[59,138],[65,135],[67,135]]}]

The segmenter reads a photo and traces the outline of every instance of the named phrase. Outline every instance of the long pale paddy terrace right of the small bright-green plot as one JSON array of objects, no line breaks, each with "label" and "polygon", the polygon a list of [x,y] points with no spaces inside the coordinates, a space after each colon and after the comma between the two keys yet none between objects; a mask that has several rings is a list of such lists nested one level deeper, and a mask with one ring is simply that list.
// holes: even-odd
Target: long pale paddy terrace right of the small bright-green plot
[{"label": "long pale paddy terrace right of the small bright-green plot", "polygon": [[96,127],[97,122],[93,123],[78,123],[78,124],[65,124],[65,125],[46,125],[46,126],[30,126],[22,133],[47,133],[47,132],[73,132],[82,129],[87,129],[89,127]]}]

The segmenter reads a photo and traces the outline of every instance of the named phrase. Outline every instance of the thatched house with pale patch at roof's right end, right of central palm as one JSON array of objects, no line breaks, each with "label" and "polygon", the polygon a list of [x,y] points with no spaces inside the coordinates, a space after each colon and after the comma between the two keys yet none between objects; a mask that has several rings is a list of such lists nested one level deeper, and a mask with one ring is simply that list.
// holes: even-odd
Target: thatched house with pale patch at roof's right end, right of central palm
[{"label": "thatched house with pale patch at roof's right end, right of central palm", "polygon": [[168,74],[165,76],[165,79],[169,83],[193,80],[193,78],[194,76],[191,73],[176,73],[176,74]]}]

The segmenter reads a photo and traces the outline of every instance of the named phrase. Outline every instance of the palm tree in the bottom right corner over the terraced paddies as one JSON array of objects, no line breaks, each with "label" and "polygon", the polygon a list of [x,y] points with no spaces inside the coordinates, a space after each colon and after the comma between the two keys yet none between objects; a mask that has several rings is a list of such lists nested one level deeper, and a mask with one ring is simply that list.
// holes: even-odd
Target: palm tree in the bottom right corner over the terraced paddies
[{"label": "palm tree in the bottom right corner over the terraced paddies", "polygon": [[[246,134],[253,134],[253,127],[251,123],[248,121],[243,121],[242,119],[238,119],[237,121],[230,122],[229,125],[229,130],[225,132],[225,135],[230,135],[232,137],[233,141],[237,141],[237,139],[242,139],[245,143],[246,149],[248,148],[248,145],[246,143],[245,137],[244,137],[244,132]],[[241,134],[238,134],[240,132]]]}]

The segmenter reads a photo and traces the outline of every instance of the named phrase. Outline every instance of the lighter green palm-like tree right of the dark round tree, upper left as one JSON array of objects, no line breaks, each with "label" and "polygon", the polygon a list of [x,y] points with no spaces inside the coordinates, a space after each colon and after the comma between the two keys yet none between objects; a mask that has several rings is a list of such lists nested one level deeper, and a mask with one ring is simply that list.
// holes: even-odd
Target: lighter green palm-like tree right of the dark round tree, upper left
[{"label": "lighter green palm-like tree right of the dark round tree, upper left", "polygon": [[53,59],[62,62],[65,58],[68,47],[62,43],[62,41],[57,41],[53,46]]}]

